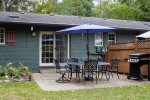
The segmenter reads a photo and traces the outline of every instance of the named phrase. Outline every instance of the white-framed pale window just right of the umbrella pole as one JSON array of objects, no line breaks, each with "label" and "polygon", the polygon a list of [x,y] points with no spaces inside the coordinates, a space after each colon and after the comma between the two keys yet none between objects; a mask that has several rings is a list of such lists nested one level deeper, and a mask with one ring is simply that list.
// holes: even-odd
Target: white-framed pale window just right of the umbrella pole
[{"label": "white-framed pale window just right of the umbrella pole", "polygon": [[103,46],[103,33],[95,34],[95,46]]}]

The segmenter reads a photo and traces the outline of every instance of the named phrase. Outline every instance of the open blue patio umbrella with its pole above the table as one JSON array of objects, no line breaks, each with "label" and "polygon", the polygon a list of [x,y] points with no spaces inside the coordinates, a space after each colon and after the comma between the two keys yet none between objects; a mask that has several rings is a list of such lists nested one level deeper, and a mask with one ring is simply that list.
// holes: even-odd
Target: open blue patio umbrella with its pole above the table
[{"label": "open blue patio umbrella with its pole above the table", "polygon": [[83,25],[63,29],[57,32],[69,33],[69,34],[77,34],[77,33],[87,34],[87,55],[89,59],[89,34],[98,33],[98,32],[113,32],[113,31],[115,31],[115,28],[111,28],[107,26],[99,26],[94,24],[83,24]]}]

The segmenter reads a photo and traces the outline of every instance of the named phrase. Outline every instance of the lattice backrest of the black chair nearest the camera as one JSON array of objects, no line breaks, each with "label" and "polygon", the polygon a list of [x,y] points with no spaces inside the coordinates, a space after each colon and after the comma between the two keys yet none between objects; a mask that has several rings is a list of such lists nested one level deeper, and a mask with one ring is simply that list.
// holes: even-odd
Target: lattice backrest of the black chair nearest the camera
[{"label": "lattice backrest of the black chair nearest the camera", "polygon": [[94,71],[97,70],[97,60],[88,60],[84,62],[84,71]]}]

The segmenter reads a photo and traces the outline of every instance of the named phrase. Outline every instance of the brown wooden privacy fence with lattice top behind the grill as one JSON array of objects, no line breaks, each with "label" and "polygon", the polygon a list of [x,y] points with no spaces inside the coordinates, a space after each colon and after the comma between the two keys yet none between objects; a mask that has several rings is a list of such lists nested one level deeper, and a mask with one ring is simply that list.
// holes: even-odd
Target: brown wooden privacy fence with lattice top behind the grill
[{"label": "brown wooden privacy fence with lattice top behind the grill", "polygon": [[[129,73],[129,63],[124,60],[129,58],[132,53],[150,53],[150,40],[136,40],[126,43],[109,44],[106,60],[111,62],[111,59],[118,57],[121,59],[119,64],[119,72]],[[147,66],[142,67],[142,74],[147,75]]]}]

